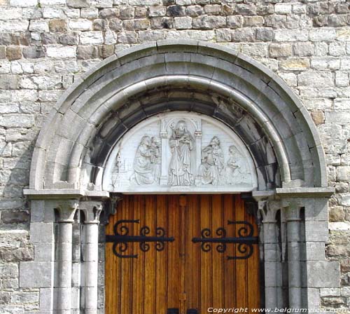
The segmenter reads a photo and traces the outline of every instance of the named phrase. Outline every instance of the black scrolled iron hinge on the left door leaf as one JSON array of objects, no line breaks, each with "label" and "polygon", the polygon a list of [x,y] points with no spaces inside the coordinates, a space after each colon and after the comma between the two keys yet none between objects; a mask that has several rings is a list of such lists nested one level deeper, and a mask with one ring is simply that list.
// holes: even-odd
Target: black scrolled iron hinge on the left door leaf
[{"label": "black scrolled iron hinge on the left door leaf", "polygon": [[165,242],[173,242],[173,237],[165,237],[165,229],[161,227],[155,228],[155,235],[150,236],[151,229],[148,226],[143,226],[140,229],[139,235],[129,235],[129,227],[125,224],[139,224],[139,219],[121,219],[113,226],[114,235],[106,235],[106,242],[113,243],[113,253],[122,259],[137,258],[137,254],[123,254],[127,251],[129,243],[139,243],[140,250],[147,252],[150,250],[150,242],[155,243],[155,250],[162,251],[165,248]]}]

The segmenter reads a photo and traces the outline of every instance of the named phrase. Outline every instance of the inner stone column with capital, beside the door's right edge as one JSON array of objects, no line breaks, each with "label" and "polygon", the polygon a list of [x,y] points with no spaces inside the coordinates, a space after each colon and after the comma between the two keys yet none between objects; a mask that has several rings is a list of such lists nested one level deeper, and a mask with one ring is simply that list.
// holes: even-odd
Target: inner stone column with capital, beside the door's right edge
[{"label": "inner stone column with capital, beside the door's right edge", "polygon": [[262,216],[263,247],[265,259],[265,308],[282,306],[281,252],[279,249],[276,213],[281,209],[276,200],[258,202]]}]

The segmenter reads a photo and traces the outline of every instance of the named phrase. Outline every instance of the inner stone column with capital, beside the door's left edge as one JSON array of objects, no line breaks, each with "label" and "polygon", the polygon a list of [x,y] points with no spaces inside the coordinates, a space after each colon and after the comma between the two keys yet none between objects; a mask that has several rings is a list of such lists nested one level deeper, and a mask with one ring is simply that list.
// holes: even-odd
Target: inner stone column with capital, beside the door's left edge
[{"label": "inner stone column with capital, beside the door's left edge", "polygon": [[80,210],[85,214],[85,314],[97,313],[97,279],[99,251],[99,215],[102,212],[102,202],[80,202]]}]

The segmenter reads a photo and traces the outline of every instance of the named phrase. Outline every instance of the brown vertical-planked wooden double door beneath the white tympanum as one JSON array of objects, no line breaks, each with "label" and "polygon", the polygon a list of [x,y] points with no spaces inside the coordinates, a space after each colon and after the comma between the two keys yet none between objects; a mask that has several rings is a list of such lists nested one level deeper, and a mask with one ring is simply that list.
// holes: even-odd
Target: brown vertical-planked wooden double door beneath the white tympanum
[{"label": "brown vertical-planked wooden double door beneath the white tympanum", "polygon": [[[202,243],[193,242],[204,228],[211,231],[209,238],[222,236],[218,228],[225,228],[226,237],[238,237],[241,226],[228,221],[248,221],[256,237],[255,221],[239,196],[125,195],[106,235],[114,234],[113,226],[121,219],[137,220],[118,225],[126,226],[128,235],[140,235],[141,227],[148,226],[146,235],[153,236],[161,227],[165,238],[174,240],[164,242],[164,250],[149,242],[146,252],[139,242],[116,245],[123,257],[113,254],[113,243],[106,243],[106,314],[166,314],[167,308],[179,308],[180,314],[188,308],[208,313],[208,308],[260,306],[257,245],[248,259],[228,259],[240,256],[237,244],[228,243],[220,253],[217,243],[209,243],[211,250],[204,252],[209,249],[205,243],[203,250]],[[120,234],[126,231],[120,229]]]}]

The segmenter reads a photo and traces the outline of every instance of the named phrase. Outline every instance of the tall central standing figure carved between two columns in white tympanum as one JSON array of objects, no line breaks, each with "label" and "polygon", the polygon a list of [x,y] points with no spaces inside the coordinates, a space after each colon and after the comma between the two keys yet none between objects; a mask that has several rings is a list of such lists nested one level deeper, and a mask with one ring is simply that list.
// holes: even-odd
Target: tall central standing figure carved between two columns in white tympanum
[{"label": "tall central standing figure carved between two columns in white tympanum", "polygon": [[169,146],[172,151],[168,178],[170,186],[189,186],[193,184],[191,151],[194,142],[192,135],[188,132],[186,122],[180,120],[169,139]]}]

